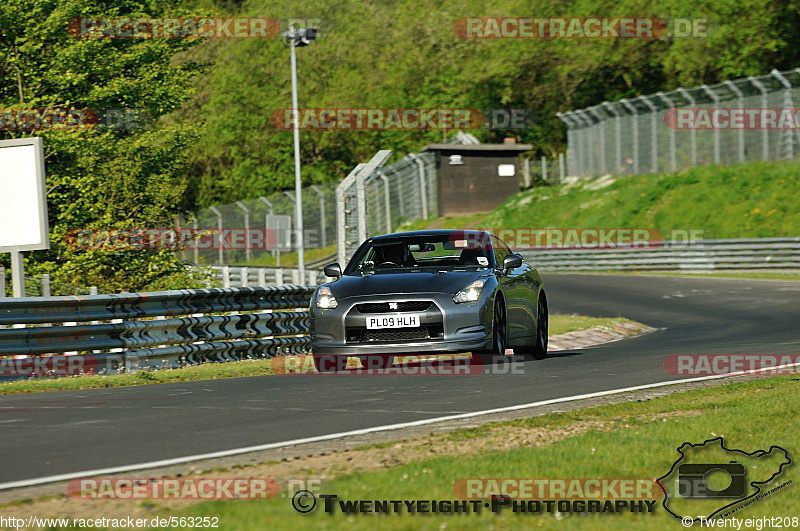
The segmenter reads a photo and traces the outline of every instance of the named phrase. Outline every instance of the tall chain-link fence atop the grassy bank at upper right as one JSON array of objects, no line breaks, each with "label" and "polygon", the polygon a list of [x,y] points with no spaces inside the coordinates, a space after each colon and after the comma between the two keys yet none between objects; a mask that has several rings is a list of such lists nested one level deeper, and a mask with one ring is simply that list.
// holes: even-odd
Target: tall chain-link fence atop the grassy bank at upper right
[{"label": "tall chain-link fence atop the grassy bank at upper right", "polygon": [[[566,173],[578,177],[669,173],[709,164],[792,160],[800,156],[795,102],[800,102],[800,68],[558,113],[567,125]],[[700,109],[741,109],[741,126],[738,122],[734,126],[730,114],[727,126],[720,122],[700,127],[698,119],[682,128],[677,117],[686,109],[692,109],[690,119],[699,117]],[[769,123],[759,121],[761,127],[748,127],[748,111],[768,109],[778,115],[791,110],[793,125],[781,127],[778,121],[764,127]],[[713,113],[709,115],[714,119]]]}]

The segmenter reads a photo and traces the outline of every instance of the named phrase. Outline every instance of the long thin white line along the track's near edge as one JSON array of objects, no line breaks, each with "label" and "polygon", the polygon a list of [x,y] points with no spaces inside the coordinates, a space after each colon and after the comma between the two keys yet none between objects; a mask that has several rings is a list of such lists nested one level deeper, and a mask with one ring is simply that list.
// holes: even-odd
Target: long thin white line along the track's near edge
[{"label": "long thin white line along the track's near edge", "polygon": [[219,452],[209,452],[205,454],[187,455],[184,457],[175,457],[172,459],[162,459],[160,461],[150,461],[147,463],[136,463],[132,465],[122,465],[110,468],[98,468],[96,470],[84,470],[81,472],[68,472],[66,474],[57,474],[53,476],[45,476],[40,478],[22,479],[19,481],[9,481],[7,483],[0,483],[0,490],[16,489],[21,487],[32,487],[35,485],[43,485],[46,483],[55,483],[57,481],[67,481],[76,478],[85,478],[92,476],[101,476],[107,474],[119,474],[122,472],[132,472],[136,470],[147,470],[150,468],[160,468],[165,466],[180,465],[192,461],[202,461],[205,459],[218,459],[221,457],[230,457],[233,455],[247,454],[250,452],[259,452],[262,450],[272,450],[275,448],[282,448],[284,446],[295,446],[298,444],[307,444],[320,441],[328,441],[331,439],[339,439],[341,437],[352,437],[355,435],[367,435],[369,433],[376,433],[381,431],[399,430],[403,428],[413,428],[415,426],[425,426],[427,424],[436,424],[438,422],[447,422],[450,420],[461,420],[472,417],[479,417],[481,415],[491,415],[493,413],[505,413],[507,411],[517,411],[520,409],[527,409],[531,407],[547,406],[550,404],[559,404],[562,402],[572,402],[574,400],[586,400],[589,398],[598,398],[601,396],[616,395],[620,393],[629,393],[631,391],[641,391],[643,389],[653,389],[656,387],[666,387],[669,385],[676,385],[682,383],[702,382],[706,380],[718,380],[720,378],[728,378],[731,376],[743,376],[746,374],[754,374],[765,371],[775,371],[778,369],[787,369],[789,367],[800,366],[800,363],[790,363],[786,365],[778,365],[775,367],[765,367],[755,371],[740,371],[727,374],[715,374],[712,376],[699,376],[697,378],[685,378],[683,380],[670,380],[668,382],[658,382],[653,384],[636,385],[633,387],[623,387],[621,389],[612,389],[610,391],[599,391],[596,393],[587,393],[584,395],[565,396],[562,398],[553,398],[550,400],[542,400],[539,402],[531,402],[529,404],[518,404],[515,406],[498,407],[495,409],[486,409],[483,411],[471,411],[469,413],[460,413],[458,415],[448,415],[444,417],[435,417],[430,419],[414,420],[411,422],[401,422],[399,424],[388,424],[386,426],[374,426],[372,428],[362,428],[360,430],[345,431],[341,433],[330,433],[328,435],[317,435],[315,437],[306,437],[303,439],[294,439],[291,441],[282,441],[277,443],[259,444],[256,446],[246,446],[244,448],[233,448],[231,450],[221,450]]}]

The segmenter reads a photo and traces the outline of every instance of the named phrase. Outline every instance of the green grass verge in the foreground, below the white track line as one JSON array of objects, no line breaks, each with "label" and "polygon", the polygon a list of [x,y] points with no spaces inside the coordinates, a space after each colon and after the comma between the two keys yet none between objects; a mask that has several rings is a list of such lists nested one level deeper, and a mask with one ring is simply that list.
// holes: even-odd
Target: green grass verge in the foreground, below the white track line
[{"label": "green grass verge in the foreground, below the white track line", "polygon": [[[506,451],[486,449],[468,456],[444,455],[391,466],[386,470],[353,473],[325,483],[321,493],[342,500],[454,499],[458,478],[652,478],[666,474],[679,457],[676,448],[685,441],[700,443],[723,436],[726,445],[746,451],[778,445],[796,459],[800,378],[778,376],[683,392],[644,402],[627,402],[544,415],[503,423],[509,427],[568,429],[593,422],[597,429],[567,436],[553,444],[523,446]],[[681,413],[684,413],[681,415]],[[686,413],[691,413],[687,415]],[[483,426],[460,430],[451,437],[464,439],[470,432],[480,437]],[[432,453],[433,455],[433,453]],[[354,456],[357,458],[357,456]],[[388,466],[388,465],[387,465]],[[787,467],[777,483],[793,484],[736,513],[737,518],[797,516],[800,509],[797,466]],[[766,489],[765,489],[766,490]],[[289,493],[291,494],[291,493]],[[319,493],[318,493],[319,494]],[[207,502],[187,510],[187,515],[218,516],[225,529],[326,528],[326,529],[497,529],[545,527],[570,529],[682,529],[660,503],[651,515],[593,515],[587,517],[515,515],[495,516],[327,515],[318,505],[309,515],[299,515],[289,499],[268,501]]]}]

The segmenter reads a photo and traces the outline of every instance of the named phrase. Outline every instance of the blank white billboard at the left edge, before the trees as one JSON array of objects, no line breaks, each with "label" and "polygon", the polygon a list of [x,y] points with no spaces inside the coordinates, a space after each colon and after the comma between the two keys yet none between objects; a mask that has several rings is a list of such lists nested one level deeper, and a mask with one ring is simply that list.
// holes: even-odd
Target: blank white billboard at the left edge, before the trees
[{"label": "blank white billboard at the left edge, before the trees", "polygon": [[0,140],[0,252],[49,248],[42,139]]}]

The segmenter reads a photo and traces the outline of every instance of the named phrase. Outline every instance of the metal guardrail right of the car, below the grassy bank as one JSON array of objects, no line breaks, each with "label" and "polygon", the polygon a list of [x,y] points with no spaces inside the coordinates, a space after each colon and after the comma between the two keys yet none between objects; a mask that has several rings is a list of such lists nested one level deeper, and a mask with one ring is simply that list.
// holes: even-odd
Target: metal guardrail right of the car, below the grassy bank
[{"label": "metal guardrail right of the car, below the grassy bank", "polygon": [[800,269],[800,238],[651,242],[647,248],[541,249],[521,253],[542,271]]}]

